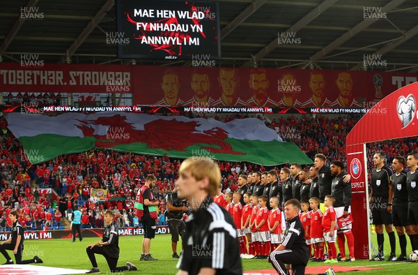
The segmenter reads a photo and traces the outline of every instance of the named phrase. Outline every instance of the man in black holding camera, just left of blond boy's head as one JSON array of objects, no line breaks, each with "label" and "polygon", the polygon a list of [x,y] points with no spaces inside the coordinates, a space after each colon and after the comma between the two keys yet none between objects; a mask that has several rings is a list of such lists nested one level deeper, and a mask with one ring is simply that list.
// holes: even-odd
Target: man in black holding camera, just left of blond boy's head
[{"label": "man in black holding camera, just left of blond boy's head", "polygon": [[171,249],[173,250],[173,259],[180,258],[177,254],[177,242],[178,235],[182,236],[186,230],[185,222],[183,221],[183,212],[188,208],[183,204],[183,200],[180,200],[177,196],[177,185],[174,186],[173,191],[166,195],[167,204],[167,223],[171,233]]}]

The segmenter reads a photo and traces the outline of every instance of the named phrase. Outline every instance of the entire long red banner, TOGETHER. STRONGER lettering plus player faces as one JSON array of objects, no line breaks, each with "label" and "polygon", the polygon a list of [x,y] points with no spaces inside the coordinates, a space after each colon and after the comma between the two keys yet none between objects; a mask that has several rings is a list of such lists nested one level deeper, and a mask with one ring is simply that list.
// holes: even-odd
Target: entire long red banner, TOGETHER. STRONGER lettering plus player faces
[{"label": "entire long red banner, TOGETHER. STRONGER lettering plus player faces", "polygon": [[416,73],[2,64],[1,92],[132,94],[134,105],[373,107]]}]

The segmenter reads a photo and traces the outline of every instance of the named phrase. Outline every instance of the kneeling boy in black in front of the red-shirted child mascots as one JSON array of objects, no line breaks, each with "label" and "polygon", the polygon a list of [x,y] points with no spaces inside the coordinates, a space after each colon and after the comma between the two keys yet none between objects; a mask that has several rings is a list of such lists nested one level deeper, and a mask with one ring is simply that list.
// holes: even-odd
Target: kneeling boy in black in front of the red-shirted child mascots
[{"label": "kneeling boy in black in front of the red-shirted child mascots", "polygon": [[281,274],[289,274],[286,264],[292,265],[293,275],[302,275],[309,260],[307,243],[304,239],[304,229],[299,219],[300,202],[295,199],[284,204],[288,226],[284,232],[284,241],[274,249],[268,258],[274,269]]}]

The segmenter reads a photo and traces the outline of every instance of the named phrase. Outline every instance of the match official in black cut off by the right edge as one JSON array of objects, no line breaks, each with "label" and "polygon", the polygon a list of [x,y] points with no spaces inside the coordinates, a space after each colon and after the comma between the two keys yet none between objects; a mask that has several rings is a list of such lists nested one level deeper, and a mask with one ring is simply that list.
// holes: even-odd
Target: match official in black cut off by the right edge
[{"label": "match official in black cut off by the right edge", "polygon": [[[412,251],[418,250],[418,154],[408,154],[406,165],[410,172],[406,174],[406,184],[408,186],[408,223],[412,225],[411,245]],[[413,239],[413,241],[412,241]]]}]

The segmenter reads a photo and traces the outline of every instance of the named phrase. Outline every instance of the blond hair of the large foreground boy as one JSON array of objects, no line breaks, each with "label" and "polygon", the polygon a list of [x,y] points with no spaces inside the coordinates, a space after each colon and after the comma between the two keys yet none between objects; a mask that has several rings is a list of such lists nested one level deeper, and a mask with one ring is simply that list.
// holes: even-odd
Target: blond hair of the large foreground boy
[{"label": "blond hair of the large foreground boy", "polygon": [[180,165],[178,174],[188,171],[196,181],[200,181],[205,177],[209,179],[209,185],[206,188],[208,195],[214,196],[217,194],[219,183],[221,182],[221,170],[215,161],[211,158],[195,157],[186,158]]}]

